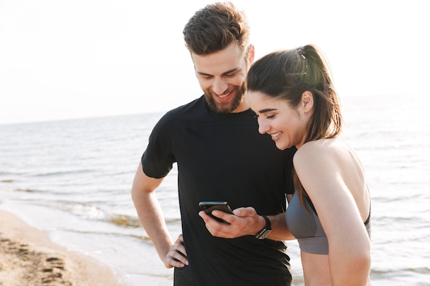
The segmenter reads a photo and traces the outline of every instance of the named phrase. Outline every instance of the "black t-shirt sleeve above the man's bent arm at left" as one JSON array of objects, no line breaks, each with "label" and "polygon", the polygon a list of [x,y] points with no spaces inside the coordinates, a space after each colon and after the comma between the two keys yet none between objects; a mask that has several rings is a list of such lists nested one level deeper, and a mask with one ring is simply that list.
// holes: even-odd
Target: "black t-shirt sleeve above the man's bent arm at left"
[{"label": "black t-shirt sleeve above the man's bent arm at left", "polygon": [[142,155],[142,167],[146,176],[151,178],[163,178],[172,169],[176,162],[172,152],[173,136],[172,123],[168,115],[164,115],[152,130],[148,146]]}]

